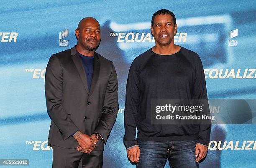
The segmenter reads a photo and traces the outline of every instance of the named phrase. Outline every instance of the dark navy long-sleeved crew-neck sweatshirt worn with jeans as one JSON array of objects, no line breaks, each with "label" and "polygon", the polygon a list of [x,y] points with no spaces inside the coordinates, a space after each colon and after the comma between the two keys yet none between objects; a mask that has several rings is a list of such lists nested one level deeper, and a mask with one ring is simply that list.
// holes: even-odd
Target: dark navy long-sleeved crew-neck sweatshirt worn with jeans
[{"label": "dark navy long-sleeved crew-neck sweatshirt worn with jeans", "polygon": [[148,141],[197,140],[208,146],[211,125],[151,124],[151,99],[207,99],[200,57],[184,47],[172,55],[148,49],[131,64],[125,96],[126,148]]}]

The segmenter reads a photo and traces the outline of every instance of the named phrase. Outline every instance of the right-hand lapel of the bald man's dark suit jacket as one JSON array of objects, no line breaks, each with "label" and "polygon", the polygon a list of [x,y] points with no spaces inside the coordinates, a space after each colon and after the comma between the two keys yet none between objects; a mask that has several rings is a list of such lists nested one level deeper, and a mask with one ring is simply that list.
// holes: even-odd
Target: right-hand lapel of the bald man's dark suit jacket
[{"label": "right-hand lapel of the bald man's dark suit jacket", "polygon": [[95,53],[94,59],[93,59],[93,73],[92,73],[92,82],[91,82],[89,96],[92,95],[92,92],[95,89],[95,85],[98,81],[99,73],[100,73],[100,60],[99,60],[99,57],[97,56],[97,53]]}]

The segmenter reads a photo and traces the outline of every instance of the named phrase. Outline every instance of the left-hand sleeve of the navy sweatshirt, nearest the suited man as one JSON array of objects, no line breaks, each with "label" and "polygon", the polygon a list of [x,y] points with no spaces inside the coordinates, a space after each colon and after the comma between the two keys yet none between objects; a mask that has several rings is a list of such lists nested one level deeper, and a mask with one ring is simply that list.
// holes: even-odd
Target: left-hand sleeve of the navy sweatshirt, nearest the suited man
[{"label": "left-hand sleeve of the navy sweatshirt, nearest the suited man", "polygon": [[131,64],[125,94],[124,126],[125,135],[123,137],[126,148],[138,145],[136,141],[136,121],[138,105],[140,100],[140,85],[138,69],[133,61]]}]

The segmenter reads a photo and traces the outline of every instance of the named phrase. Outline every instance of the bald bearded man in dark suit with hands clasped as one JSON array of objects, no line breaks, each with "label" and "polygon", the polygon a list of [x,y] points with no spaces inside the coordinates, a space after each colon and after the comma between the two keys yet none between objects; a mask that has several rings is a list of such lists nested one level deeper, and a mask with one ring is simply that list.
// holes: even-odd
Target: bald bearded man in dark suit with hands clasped
[{"label": "bald bearded man in dark suit with hands clasped", "polygon": [[100,24],[79,22],[77,45],[53,54],[46,68],[45,93],[51,118],[48,145],[54,168],[102,167],[104,143],[118,113],[118,81],[113,62],[95,52]]}]

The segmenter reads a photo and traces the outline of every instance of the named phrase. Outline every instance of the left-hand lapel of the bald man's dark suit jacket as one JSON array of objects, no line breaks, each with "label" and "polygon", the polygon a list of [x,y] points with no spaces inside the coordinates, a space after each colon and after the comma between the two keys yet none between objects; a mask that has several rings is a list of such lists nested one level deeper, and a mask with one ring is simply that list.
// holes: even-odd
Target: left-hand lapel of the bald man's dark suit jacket
[{"label": "left-hand lapel of the bald man's dark suit jacket", "polygon": [[84,72],[84,67],[82,64],[82,60],[79,58],[78,54],[77,54],[77,50],[75,48],[75,46],[71,49],[71,55],[72,55],[72,60],[75,64],[75,66],[77,67],[77,72],[80,76],[80,78],[82,79],[82,83],[84,84],[84,88],[87,91],[87,94],[89,93],[89,89],[87,86],[87,79],[86,79],[86,75]]}]

